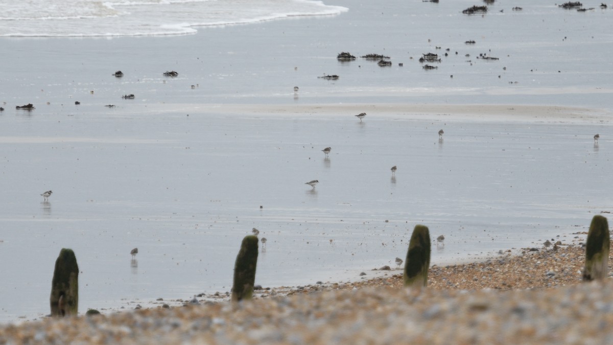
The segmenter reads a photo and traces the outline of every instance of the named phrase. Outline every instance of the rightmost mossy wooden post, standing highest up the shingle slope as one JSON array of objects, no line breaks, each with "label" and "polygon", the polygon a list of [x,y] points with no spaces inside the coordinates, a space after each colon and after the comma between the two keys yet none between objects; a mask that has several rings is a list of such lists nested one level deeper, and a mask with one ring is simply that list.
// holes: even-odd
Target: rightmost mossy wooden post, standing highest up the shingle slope
[{"label": "rightmost mossy wooden post, standing highest up the shingle slope", "polygon": [[604,279],[607,276],[610,241],[607,219],[602,215],[595,215],[585,243],[584,281]]}]

